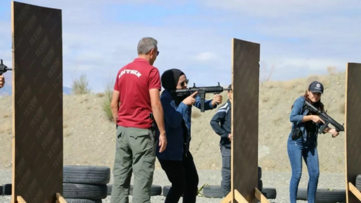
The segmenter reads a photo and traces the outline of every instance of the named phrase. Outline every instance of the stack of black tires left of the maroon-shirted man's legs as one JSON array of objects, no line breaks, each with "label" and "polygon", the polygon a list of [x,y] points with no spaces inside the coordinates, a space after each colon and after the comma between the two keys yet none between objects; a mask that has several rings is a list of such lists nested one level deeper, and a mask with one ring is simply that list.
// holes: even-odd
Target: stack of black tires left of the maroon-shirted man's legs
[{"label": "stack of black tires left of the maroon-shirted man's legs", "polygon": [[101,203],[108,196],[110,168],[63,166],[63,197],[68,203]]}]

